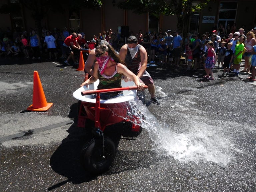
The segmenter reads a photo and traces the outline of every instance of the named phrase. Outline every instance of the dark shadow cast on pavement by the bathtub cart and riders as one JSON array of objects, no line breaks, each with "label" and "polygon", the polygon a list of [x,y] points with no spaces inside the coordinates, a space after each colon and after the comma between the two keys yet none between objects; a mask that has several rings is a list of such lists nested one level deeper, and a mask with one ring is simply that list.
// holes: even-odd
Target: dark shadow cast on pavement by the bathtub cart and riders
[{"label": "dark shadow cast on pavement by the bathtub cart and riders", "polygon": [[[97,176],[90,175],[80,163],[81,150],[91,137],[86,134],[84,128],[77,127],[77,114],[77,103],[75,103],[70,107],[69,117],[74,117],[75,115],[76,117],[74,123],[67,130],[69,135],[62,140],[61,145],[54,151],[50,159],[52,170],[59,175],[67,177],[67,179],[48,187],[48,191],[61,187],[68,182],[80,184],[97,179]],[[116,134],[115,127],[120,129],[119,125],[111,127],[111,131],[114,131],[113,134]],[[134,138],[124,137],[121,139],[134,140]],[[148,168],[148,166],[154,165],[161,160],[163,160],[163,157],[156,155],[153,151],[134,152],[117,150],[112,166],[101,175],[119,174],[127,170]]]}]

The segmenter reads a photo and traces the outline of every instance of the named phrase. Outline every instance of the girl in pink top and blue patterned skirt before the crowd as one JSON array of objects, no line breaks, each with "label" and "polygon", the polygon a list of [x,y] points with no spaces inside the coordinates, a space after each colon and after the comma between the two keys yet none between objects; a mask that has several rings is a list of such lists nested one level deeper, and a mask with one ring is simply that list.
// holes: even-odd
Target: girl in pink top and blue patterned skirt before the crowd
[{"label": "girl in pink top and blue patterned skirt before the crowd", "polygon": [[[213,42],[209,41],[207,43],[207,47],[208,47],[208,53],[207,53],[207,58],[205,60],[206,75],[204,76],[204,78],[208,80],[214,80],[212,69],[216,64],[216,53],[214,51]],[[209,77],[209,75],[211,75],[211,77]]]}]

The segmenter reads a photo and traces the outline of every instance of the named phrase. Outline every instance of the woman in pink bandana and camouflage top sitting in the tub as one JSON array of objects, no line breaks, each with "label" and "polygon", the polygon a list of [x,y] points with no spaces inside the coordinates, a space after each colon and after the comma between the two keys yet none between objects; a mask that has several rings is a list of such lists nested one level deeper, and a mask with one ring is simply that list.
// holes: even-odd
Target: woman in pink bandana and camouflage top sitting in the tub
[{"label": "woman in pink bandana and camouflage top sitting in the tub", "polygon": [[[122,75],[125,75],[135,83],[138,90],[143,89],[145,84],[141,83],[140,79],[127,69],[125,63],[111,45],[98,45],[95,49],[95,57],[97,62],[95,62],[94,69],[98,70],[94,70],[93,75],[82,83],[81,86],[88,86],[99,79],[98,89],[120,88]],[[111,99],[122,95],[123,91],[116,91],[101,93],[100,97],[101,99]]]}]

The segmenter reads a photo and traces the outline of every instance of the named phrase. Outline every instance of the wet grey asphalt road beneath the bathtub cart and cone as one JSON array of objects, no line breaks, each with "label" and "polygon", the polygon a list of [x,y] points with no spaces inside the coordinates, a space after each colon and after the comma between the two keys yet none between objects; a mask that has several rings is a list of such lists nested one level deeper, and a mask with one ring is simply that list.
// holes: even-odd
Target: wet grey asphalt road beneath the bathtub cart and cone
[{"label": "wet grey asphalt road beneath the bathtub cart and cone", "polygon": [[[149,66],[161,104],[147,91],[146,106],[131,104],[145,117],[142,133],[122,137],[110,169],[91,176],[80,165],[86,134],[72,97],[84,72],[60,63],[0,58],[0,191],[256,191],[256,87],[248,75],[216,69],[205,81],[203,69]],[[53,103],[46,112],[26,111],[35,70]]]}]

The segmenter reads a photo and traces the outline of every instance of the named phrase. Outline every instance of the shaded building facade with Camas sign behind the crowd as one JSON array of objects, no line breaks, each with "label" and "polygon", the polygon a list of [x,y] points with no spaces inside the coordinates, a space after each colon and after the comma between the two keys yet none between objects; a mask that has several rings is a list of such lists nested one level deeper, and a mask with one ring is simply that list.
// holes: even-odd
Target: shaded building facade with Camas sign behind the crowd
[{"label": "shaded building facade with Camas sign behind the crowd", "polygon": [[[121,1],[121,0],[119,0]],[[176,16],[165,16],[163,14],[144,13],[137,15],[132,11],[126,11],[117,7],[118,0],[103,0],[100,9],[69,10],[60,14],[50,12],[41,20],[41,26],[52,31],[54,28],[62,29],[64,26],[69,31],[80,31],[85,33],[86,40],[93,38],[103,31],[120,33],[120,26],[128,26],[129,32],[137,34],[139,30],[152,33],[160,28],[163,32],[177,27]],[[13,3],[12,0],[1,0],[0,6]],[[196,2],[195,2],[196,3]],[[35,28],[35,21],[30,10],[21,7],[19,11],[11,14],[0,14],[0,28],[2,32],[10,28],[21,28],[29,31]],[[211,32],[213,27],[223,25],[225,28],[236,24],[237,30],[244,28],[245,31],[256,26],[256,0],[211,0],[200,12],[193,12],[189,25],[184,26],[188,31],[197,31],[199,34]],[[123,28],[122,28],[123,29]],[[180,34],[182,32],[179,32]]]}]

